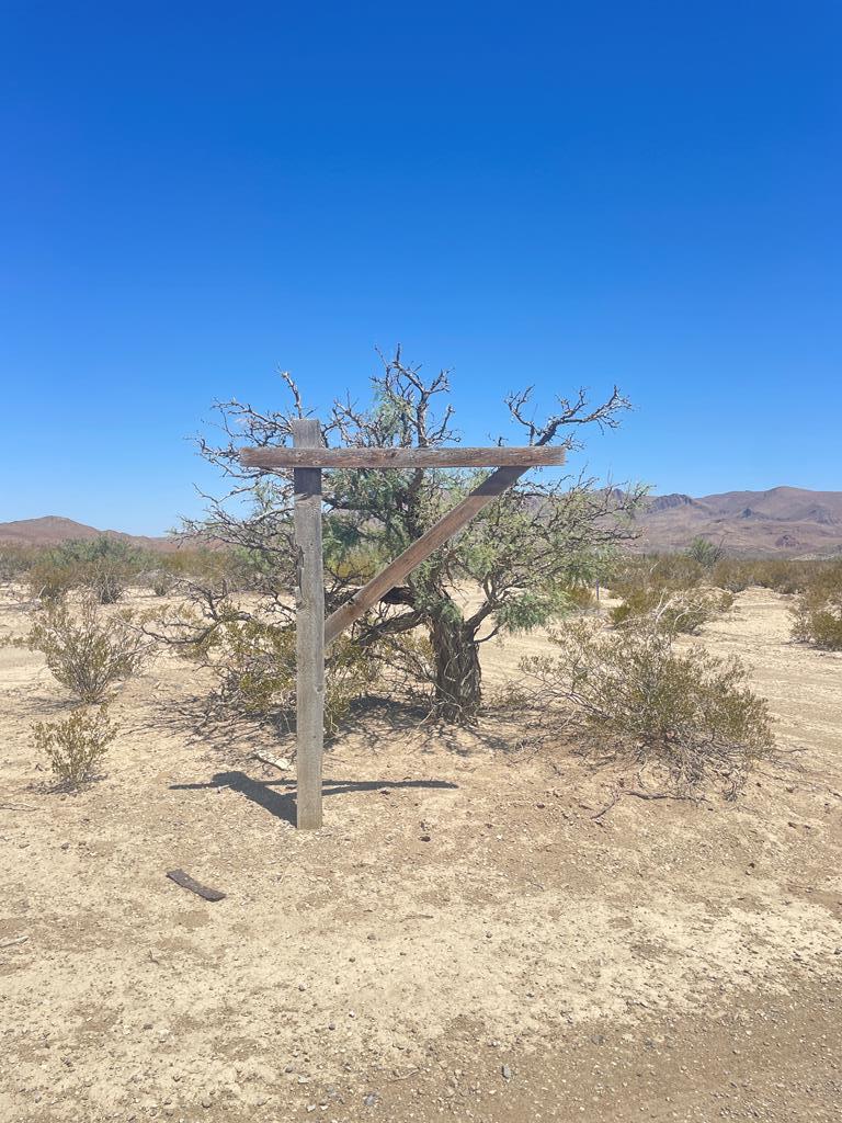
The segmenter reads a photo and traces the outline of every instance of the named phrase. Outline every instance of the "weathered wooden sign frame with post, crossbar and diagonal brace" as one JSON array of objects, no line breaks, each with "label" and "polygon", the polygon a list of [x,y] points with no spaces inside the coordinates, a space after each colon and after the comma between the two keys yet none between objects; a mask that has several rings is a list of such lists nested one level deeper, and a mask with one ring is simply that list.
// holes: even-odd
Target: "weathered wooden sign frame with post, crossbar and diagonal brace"
[{"label": "weathered wooden sign frame with post, crossbar and diagonal brace", "polygon": [[[512,486],[529,468],[564,464],[565,450],[547,445],[529,448],[324,448],[314,419],[292,422],[292,448],[244,448],[244,467],[293,472],[298,582],[295,590],[296,657],[296,823],[313,830],[322,823],[321,774],[324,745],[324,648],[399,585],[434,550],[452,538],[483,508]],[[322,468],[484,468],[487,480],[430,527],[403,554],[350,600],[324,619],[324,569],[321,548]]]}]

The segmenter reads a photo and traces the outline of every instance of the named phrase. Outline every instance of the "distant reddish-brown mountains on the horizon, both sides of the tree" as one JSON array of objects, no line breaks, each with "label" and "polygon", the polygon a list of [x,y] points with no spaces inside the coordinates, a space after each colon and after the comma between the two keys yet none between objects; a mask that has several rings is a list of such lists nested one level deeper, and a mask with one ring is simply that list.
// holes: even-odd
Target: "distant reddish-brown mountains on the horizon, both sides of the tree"
[{"label": "distant reddish-brown mountains on the horizon, both sides of the tree", "polygon": [[[639,549],[679,550],[702,536],[731,554],[800,557],[842,554],[842,492],[772,487],[722,495],[653,495],[640,514]],[[72,519],[47,515],[0,522],[0,542],[49,546],[70,538],[113,535],[152,550],[174,550],[171,538],[146,538],[119,530],[97,530]]]}]

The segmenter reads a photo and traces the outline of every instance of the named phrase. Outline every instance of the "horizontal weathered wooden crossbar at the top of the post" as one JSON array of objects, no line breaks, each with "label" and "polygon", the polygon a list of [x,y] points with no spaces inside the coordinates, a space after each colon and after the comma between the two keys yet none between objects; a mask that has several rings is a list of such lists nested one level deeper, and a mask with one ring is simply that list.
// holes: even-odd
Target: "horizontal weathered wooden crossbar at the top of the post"
[{"label": "horizontal weathered wooden crossbar at the top of the post", "polygon": [[[298,423],[298,422],[296,422]],[[247,468],[496,468],[564,464],[565,450],[529,448],[244,448]]]}]

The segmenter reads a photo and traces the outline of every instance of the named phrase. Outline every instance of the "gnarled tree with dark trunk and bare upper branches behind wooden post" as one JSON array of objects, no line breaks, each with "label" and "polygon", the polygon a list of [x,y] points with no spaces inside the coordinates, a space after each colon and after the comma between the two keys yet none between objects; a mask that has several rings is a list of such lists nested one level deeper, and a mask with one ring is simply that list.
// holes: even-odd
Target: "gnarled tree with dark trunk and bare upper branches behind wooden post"
[{"label": "gnarled tree with dark trunk and bare upper branches behind wooden post", "polygon": [[[272,448],[290,444],[305,416],[298,386],[284,375],[291,407],[258,412],[231,401],[219,407],[228,440],[202,442],[205,458],[232,478],[227,496],[211,501],[209,519],[193,529],[246,547],[259,560],[259,590],[266,608],[283,617],[289,590],[293,492],[277,478],[244,468],[242,445]],[[400,351],[384,359],[372,380],[367,408],[337,400],[322,427],[328,445],[357,448],[436,448],[458,441],[454,410],[436,403],[450,392],[448,373],[427,378]],[[584,392],[559,399],[543,422],[528,414],[530,390],[506,399],[510,420],[530,445],[578,447],[575,433],[588,426],[613,429],[628,408],[614,389],[598,405]],[[522,444],[522,440],[518,441]],[[501,441],[502,444],[502,441]],[[318,471],[318,469],[317,469]],[[365,583],[372,570],[401,554],[445,512],[486,478],[479,472],[405,468],[328,469],[323,475],[327,606],[333,612]],[[238,510],[248,497],[251,510]],[[611,547],[631,537],[628,517],[642,489],[615,491],[586,476],[521,482],[487,508],[456,539],[415,569],[359,620],[353,638],[372,654],[415,629],[424,629],[432,650],[430,686],[436,713],[452,723],[473,722],[482,703],[479,645],[506,631],[528,631],[570,608],[568,590],[592,583]],[[234,500],[234,504],[228,500]],[[460,591],[476,590],[470,611]],[[418,666],[418,664],[417,664]]]}]

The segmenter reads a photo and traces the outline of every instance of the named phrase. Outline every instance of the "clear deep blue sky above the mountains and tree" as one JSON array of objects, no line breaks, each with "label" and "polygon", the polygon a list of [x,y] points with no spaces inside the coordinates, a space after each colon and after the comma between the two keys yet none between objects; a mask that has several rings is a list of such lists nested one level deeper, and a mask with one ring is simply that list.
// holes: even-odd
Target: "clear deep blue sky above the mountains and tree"
[{"label": "clear deep blue sky above the mountains and tree", "polygon": [[159,532],[214,398],[616,381],[591,465],[842,489],[832,2],[0,13],[0,520]]}]

